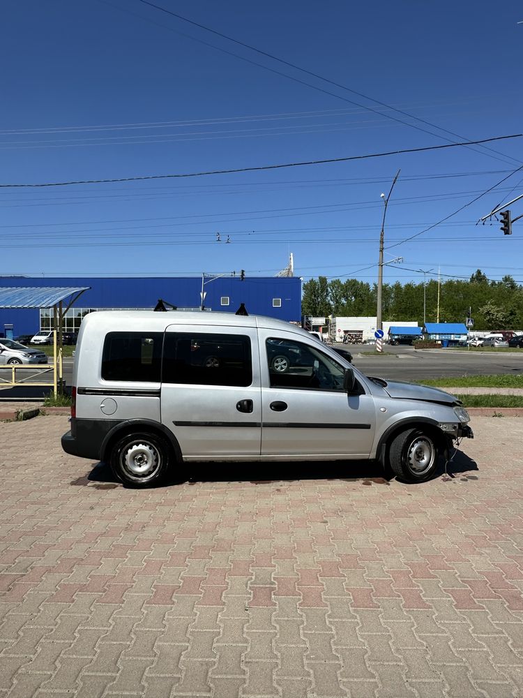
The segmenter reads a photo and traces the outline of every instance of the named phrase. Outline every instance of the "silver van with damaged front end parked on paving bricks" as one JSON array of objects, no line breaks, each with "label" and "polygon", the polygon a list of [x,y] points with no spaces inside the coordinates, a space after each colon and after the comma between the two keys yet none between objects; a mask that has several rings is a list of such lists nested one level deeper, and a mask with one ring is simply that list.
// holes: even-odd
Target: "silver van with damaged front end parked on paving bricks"
[{"label": "silver van with damaged front end parked on paving bricks", "polygon": [[61,443],[134,487],[209,460],[377,459],[422,482],[472,438],[468,422],[454,396],[367,378],[287,322],[98,311],[82,321]]}]

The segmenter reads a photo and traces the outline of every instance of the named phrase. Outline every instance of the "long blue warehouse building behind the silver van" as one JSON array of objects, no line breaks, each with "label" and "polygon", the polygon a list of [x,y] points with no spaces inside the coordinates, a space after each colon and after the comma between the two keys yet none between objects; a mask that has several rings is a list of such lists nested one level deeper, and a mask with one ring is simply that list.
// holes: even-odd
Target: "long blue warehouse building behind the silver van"
[{"label": "long blue warehouse building behind the silver van", "polygon": [[[287,322],[301,320],[301,279],[297,276],[211,276],[204,281],[204,309],[236,313],[243,303],[249,315],[268,315]],[[89,287],[67,311],[65,332],[77,332],[82,318],[98,310],[153,310],[158,299],[178,309],[197,310],[202,276],[191,278],[84,278],[0,276],[0,288]],[[167,306],[169,308],[169,306]],[[13,325],[12,336],[51,329],[52,309],[0,308],[0,335]],[[11,333],[10,332],[10,333]],[[9,334],[10,334],[9,333]]]}]

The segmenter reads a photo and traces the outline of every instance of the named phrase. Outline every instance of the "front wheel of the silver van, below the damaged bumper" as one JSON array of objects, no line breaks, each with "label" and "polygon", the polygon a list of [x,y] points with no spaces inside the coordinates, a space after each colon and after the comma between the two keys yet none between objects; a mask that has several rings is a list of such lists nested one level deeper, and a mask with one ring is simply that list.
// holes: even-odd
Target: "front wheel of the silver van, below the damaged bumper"
[{"label": "front wheel of the silver van, below the damaged bumper", "polygon": [[388,460],[399,480],[425,482],[438,466],[437,440],[425,429],[402,431],[391,441]]}]

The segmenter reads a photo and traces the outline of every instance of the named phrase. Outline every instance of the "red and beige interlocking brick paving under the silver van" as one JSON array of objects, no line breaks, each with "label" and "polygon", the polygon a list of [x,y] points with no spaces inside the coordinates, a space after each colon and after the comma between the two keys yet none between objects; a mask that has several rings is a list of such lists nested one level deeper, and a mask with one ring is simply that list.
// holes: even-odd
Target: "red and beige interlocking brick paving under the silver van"
[{"label": "red and beige interlocking brick paving under the silver van", "polygon": [[522,695],[523,419],[473,427],[418,487],[276,463],[133,491],[61,452],[65,417],[0,424],[0,696]]}]

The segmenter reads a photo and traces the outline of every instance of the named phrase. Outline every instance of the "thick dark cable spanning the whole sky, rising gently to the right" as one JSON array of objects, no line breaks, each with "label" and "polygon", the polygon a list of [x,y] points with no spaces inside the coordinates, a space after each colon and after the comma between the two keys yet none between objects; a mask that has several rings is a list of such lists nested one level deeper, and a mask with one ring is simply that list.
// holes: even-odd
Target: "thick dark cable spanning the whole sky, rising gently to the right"
[{"label": "thick dark cable spanning the whole sky, rising gently to the right", "polygon": [[[421,148],[405,148],[391,150],[384,153],[371,153],[367,155],[352,155],[344,158],[326,158],[324,160],[310,160],[297,163],[280,163],[278,165],[257,165],[251,168],[234,168],[232,170],[208,170],[204,172],[184,172],[181,174],[146,174],[139,177],[113,177],[112,179],[77,179],[71,181],[38,182],[36,184],[0,184],[0,188],[22,188],[22,187],[44,187],[44,186],[69,186],[71,184],[106,184],[119,181],[144,181],[146,179],[181,179],[186,177],[206,177],[210,174],[234,174],[238,172],[259,172],[261,170],[282,170],[283,168],[304,167],[305,165],[327,165],[331,163],[346,163],[354,160],[367,160],[370,158],[384,158],[390,155],[401,155],[407,153],[420,153],[430,150],[442,150],[456,148],[479,143],[491,143],[496,140],[508,140],[510,138],[521,138],[523,133],[513,135],[499,135],[494,138],[483,138],[481,140],[469,140],[460,143],[447,143],[445,145],[430,145]],[[517,170],[516,170],[517,171]]]}]

